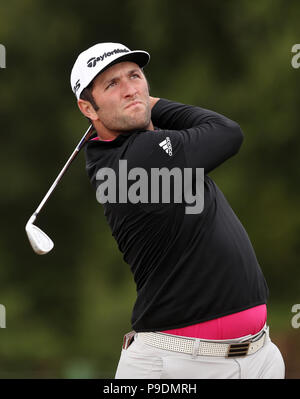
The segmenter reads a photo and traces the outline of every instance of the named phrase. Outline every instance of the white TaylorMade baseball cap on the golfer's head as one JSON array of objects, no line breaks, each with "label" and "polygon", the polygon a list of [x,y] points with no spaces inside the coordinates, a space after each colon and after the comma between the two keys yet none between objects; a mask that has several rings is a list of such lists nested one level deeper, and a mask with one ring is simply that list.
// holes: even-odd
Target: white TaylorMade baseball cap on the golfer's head
[{"label": "white TaylorMade baseball cap on the golfer's head", "polygon": [[77,57],[71,72],[71,87],[79,99],[83,89],[107,67],[122,61],[132,61],[143,68],[148,64],[150,54],[146,51],[131,51],[120,43],[98,43],[83,51]]}]

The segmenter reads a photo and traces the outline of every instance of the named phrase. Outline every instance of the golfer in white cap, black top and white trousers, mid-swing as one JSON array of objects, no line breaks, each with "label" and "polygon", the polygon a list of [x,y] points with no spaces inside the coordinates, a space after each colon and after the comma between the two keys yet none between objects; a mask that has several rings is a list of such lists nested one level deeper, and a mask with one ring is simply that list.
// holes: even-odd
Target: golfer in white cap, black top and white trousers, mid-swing
[{"label": "golfer in white cap, black top and white trousers, mid-swing", "polygon": [[[115,377],[284,378],[269,336],[265,278],[244,227],[209,177],[239,151],[241,129],[216,112],[150,97],[143,72],[149,59],[145,51],[99,43],[78,56],[71,73],[78,107],[95,128],[88,176],[137,290]],[[154,170],[192,171],[191,191],[202,187],[203,206],[193,208],[185,195],[163,201],[147,180]],[[107,192],[115,184],[107,198],[105,183]]]}]

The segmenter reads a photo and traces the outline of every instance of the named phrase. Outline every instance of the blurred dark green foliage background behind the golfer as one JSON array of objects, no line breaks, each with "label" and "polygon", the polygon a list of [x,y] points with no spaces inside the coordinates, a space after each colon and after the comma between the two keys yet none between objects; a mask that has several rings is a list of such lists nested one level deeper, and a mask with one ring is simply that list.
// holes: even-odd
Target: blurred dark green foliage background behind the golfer
[{"label": "blurred dark green foliage background behind the golfer", "polygon": [[113,377],[135,287],[79,156],[39,217],[55,241],[37,256],[25,224],[87,128],[69,76],[102,41],[151,53],[151,94],[236,120],[245,140],[212,177],[246,227],[270,288],[271,336],[300,376],[300,3],[284,0],[10,0],[0,3],[0,378]]}]

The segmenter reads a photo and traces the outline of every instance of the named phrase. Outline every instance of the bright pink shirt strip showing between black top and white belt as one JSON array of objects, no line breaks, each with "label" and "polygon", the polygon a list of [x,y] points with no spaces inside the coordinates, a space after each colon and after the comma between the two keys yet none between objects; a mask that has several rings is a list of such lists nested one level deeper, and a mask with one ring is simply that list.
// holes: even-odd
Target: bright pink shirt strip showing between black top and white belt
[{"label": "bright pink shirt strip showing between black top and white belt", "polygon": [[266,320],[267,306],[264,304],[218,319],[161,332],[202,339],[233,339],[258,333]]}]

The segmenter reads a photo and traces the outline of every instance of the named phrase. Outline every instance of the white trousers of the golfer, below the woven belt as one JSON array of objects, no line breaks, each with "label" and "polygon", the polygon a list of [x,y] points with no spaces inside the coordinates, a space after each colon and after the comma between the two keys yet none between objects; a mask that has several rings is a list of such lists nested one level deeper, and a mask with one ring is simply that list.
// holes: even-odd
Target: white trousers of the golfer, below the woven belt
[{"label": "white trousers of the golfer, below the woven belt", "polygon": [[233,358],[193,356],[159,349],[145,344],[136,334],[132,344],[122,349],[115,378],[283,379],[284,375],[283,358],[267,331],[264,346],[256,353]]}]

